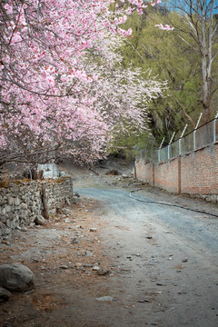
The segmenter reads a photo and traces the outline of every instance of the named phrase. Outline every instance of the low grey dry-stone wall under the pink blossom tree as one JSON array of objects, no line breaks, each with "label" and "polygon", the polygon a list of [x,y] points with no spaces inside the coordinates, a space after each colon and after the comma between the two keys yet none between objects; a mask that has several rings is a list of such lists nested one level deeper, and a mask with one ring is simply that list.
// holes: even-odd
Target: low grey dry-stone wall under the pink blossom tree
[{"label": "low grey dry-stone wall under the pink blossom tree", "polygon": [[43,214],[43,189],[50,215],[73,198],[73,181],[68,177],[0,185],[0,243],[10,239],[12,230],[25,230],[26,226],[35,223],[37,216]]}]

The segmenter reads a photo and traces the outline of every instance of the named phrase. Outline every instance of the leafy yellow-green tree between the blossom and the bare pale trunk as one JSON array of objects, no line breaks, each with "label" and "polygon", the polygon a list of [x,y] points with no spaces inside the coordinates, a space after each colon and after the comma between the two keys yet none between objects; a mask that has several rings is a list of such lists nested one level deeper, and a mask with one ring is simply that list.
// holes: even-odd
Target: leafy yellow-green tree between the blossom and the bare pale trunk
[{"label": "leafy yellow-green tree between the blossom and the bare pale trunk", "polygon": [[[133,34],[122,47],[124,66],[131,62],[145,71],[152,69],[154,76],[167,81],[164,96],[148,104],[149,126],[158,144],[163,136],[169,141],[173,131],[181,134],[185,124],[193,129],[201,109],[200,58],[178,35],[154,29],[166,15],[173,24],[183,25],[180,15],[167,12],[164,7],[129,17],[126,24],[127,28],[132,26]],[[191,37],[189,42],[193,43]]]}]

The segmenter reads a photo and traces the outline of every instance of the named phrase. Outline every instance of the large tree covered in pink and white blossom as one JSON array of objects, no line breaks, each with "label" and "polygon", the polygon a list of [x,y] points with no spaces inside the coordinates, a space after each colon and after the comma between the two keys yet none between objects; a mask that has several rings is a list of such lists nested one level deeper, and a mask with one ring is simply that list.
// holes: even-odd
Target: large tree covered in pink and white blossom
[{"label": "large tree covered in pink and white blossom", "polygon": [[93,162],[114,133],[144,128],[146,103],[163,84],[122,68],[118,47],[131,29],[121,26],[145,5],[118,3],[1,1],[0,165],[57,154]]}]

